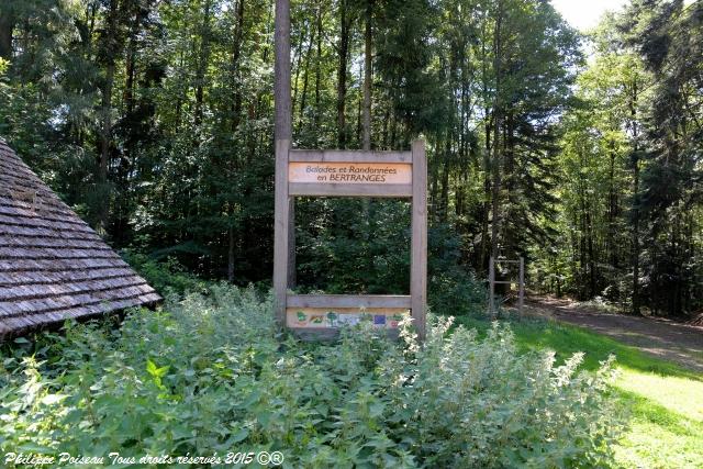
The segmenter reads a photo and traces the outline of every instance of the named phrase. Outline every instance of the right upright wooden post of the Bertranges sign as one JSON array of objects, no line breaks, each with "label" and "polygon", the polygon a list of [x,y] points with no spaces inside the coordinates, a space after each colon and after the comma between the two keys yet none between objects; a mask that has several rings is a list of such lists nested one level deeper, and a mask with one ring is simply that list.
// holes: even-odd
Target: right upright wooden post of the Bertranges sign
[{"label": "right upright wooden post of the Bertranges sign", "polygon": [[419,339],[425,339],[427,304],[427,159],[425,142],[412,144],[413,201],[410,295]]}]

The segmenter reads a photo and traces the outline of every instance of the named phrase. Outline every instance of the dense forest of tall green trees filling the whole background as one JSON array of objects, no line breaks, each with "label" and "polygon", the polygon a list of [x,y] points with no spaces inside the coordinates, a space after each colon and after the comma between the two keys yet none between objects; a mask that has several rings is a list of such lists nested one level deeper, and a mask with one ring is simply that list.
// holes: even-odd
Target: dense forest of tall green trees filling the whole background
[{"label": "dense forest of tall green trees filling the whole background", "polygon": [[[298,0],[298,148],[428,152],[431,292],[703,309],[703,2]],[[0,135],[112,246],[270,284],[274,2],[3,0]],[[300,199],[300,290],[405,292],[409,209]],[[432,293],[431,293],[432,294]]]}]

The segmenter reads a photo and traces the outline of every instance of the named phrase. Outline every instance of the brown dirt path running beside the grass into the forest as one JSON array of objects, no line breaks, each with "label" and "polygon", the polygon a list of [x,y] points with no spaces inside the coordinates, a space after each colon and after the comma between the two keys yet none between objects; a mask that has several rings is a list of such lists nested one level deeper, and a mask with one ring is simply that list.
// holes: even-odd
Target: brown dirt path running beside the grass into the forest
[{"label": "brown dirt path running beside the grass into the forest", "polygon": [[607,314],[570,300],[531,297],[528,314],[576,324],[703,373],[703,327],[661,319]]}]

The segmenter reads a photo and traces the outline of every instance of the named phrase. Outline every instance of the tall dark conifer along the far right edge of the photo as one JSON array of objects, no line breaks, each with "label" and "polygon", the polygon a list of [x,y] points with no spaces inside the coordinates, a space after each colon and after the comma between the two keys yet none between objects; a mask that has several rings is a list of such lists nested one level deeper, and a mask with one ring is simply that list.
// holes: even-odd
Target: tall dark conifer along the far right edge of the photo
[{"label": "tall dark conifer along the far right edge of the photo", "polygon": [[624,43],[654,80],[644,112],[645,160],[636,208],[644,276],[655,312],[703,308],[703,3],[634,0],[621,19]]}]

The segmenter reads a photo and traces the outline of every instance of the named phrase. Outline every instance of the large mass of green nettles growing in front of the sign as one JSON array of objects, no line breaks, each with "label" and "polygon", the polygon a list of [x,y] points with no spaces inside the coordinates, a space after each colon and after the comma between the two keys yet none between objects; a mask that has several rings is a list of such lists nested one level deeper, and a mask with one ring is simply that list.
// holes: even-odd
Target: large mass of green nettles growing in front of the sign
[{"label": "large mass of green nettles growing in front of the sign", "polygon": [[335,344],[277,337],[271,300],[212,287],[18,340],[0,370],[0,453],[224,455],[280,450],[287,467],[595,467],[620,423],[612,360],[518,354],[434,319],[420,346],[370,323]]}]

